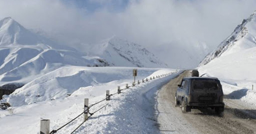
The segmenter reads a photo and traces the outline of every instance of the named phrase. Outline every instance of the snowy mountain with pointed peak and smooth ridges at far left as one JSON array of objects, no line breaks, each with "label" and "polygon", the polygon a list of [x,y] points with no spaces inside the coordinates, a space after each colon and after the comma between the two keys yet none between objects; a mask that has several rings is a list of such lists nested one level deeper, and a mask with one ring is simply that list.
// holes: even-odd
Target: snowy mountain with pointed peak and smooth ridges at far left
[{"label": "snowy mountain with pointed peak and smooth ridges at far left", "polygon": [[0,41],[0,85],[27,83],[67,65],[108,65],[99,57],[88,57],[34,34],[10,17],[0,21]]}]

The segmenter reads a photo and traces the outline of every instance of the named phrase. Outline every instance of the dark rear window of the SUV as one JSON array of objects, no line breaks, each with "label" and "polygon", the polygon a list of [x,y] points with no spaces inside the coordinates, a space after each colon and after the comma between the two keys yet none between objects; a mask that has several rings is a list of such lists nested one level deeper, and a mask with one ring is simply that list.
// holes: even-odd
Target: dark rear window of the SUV
[{"label": "dark rear window of the SUV", "polygon": [[218,83],[207,80],[194,80],[192,84],[193,90],[218,90]]}]

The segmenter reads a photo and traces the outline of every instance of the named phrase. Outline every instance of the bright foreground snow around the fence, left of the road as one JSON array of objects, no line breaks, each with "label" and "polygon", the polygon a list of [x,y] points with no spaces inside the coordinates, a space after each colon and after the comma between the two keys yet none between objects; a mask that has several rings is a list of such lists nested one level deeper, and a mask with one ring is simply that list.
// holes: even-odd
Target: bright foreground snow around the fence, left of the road
[{"label": "bright foreground snow around the fence, left of the road", "polygon": [[[124,68],[123,70],[125,73],[129,69]],[[121,94],[112,96],[110,101],[103,101],[93,106],[90,108],[91,112],[108,104],[95,113],[75,133],[159,133],[154,118],[155,93],[177,75],[177,71],[172,69],[149,69],[147,71],[154,73],[147,75],[146,70],[144,69],[145,73],[143,75],[148,78],[170,72],[173,72],[173,74],[123,90]],[[132,79],[124,78],[80,88],[66,98],[13,107],[13,115],[10,115],[7,110],[0,110],[1,133],[39,134],[40,119],[50,119],[50,129],[58,129],[83,111],[84,98],[89,98],[89,105],[102,100],[106,97],[106,90],[110,89],[110,94],[113,94],[117,92],[117,86],[124,88],[127,81],[132,81]],[[141,81],[142,78],[139,77],[139,79]],[[131,82],[128,83],[131,85]],[[57,134],[71,133],[82,122],[83,116],[60,129]]]}]

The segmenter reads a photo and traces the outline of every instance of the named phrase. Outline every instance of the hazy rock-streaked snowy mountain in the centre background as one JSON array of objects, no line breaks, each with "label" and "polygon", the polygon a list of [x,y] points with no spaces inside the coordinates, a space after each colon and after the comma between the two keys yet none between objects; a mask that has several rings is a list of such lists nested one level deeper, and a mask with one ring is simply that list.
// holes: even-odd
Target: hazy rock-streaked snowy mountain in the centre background
[{"label": "hazy rock-streaked snowy mountain in the centre background", "polygon": [[113,66],[167,67],[146,48],[116,36],[94,45],[89,51],[104,58]]}]

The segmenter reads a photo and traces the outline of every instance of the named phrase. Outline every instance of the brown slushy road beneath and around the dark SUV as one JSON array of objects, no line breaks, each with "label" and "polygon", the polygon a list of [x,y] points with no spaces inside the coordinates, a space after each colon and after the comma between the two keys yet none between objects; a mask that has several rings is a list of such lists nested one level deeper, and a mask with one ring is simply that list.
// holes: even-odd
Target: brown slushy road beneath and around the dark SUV
[{"label": "brown slushy road beneath and around the dark SUV", "polygon": [[222,116],[214,110],[192,109],[183,114],[174,106],[177,84],[189,75],[185,71],[168,82],[157,93],[156,116],[159,130],[164,134],[253,134],[256,133],[256,108],[241,100],[224,99],[225,110]]}]

